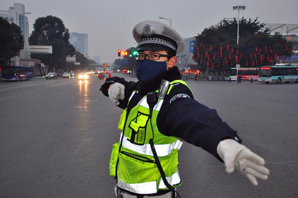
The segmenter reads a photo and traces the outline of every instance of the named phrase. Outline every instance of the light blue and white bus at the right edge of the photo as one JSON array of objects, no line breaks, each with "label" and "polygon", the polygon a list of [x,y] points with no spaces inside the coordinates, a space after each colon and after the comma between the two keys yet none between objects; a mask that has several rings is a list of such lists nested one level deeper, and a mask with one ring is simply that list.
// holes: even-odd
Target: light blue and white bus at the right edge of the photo
[{"label": "light blue and white bus at the right edge of the photo", "polygon": [[298,83],[298,66],[263,66],[259,68],[260,83]]}]

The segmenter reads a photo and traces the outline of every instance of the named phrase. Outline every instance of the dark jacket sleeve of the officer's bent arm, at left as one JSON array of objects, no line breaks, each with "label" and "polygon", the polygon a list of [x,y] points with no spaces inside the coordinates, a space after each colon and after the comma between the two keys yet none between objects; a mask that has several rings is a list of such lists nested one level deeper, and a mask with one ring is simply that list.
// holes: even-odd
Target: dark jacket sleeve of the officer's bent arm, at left
[{"label": "dark jacket sleeve of the officer's bent arm, at left", "polygon": [[124,78],[119,77],[112,77],[107,78],[106,82],[101,86],[100,91],[105,95],[106,97],[109,97],[108,89],[109,86],[113,83],[120,83],[125,86],[124,96],[125,98],[123,100],[119,100],[119,106],[120,108],[126,108],[128,104],[128,99],[131,96],[132,92],[137,89],[137,83],[133,81],[125,81]]}]

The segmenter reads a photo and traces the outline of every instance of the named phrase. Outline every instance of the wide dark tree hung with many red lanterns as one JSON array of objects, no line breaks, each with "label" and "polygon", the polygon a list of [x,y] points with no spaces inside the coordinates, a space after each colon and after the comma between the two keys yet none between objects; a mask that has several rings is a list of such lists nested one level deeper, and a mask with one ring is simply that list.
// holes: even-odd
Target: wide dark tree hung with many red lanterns
[{"label": "wide dark tree hung with many red lanterns", "polygon": [[275,64],[282,56],[291,56],[292,43],[281,35],[270,36],[265,24],[242,18],[239,22],[237,46],[237,21],[223,21],[220,26],[206,28],[196,36],[194,60],[202,71],[220,71],[224,68],[260,67]]}]

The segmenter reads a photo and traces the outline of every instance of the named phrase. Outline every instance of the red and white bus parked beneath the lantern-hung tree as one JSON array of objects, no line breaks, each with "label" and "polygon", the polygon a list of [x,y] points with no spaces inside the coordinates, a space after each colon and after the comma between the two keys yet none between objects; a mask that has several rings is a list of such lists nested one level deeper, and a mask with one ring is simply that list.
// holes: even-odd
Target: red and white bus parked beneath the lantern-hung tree
[{"label": "red and white bus parked beneath the lantern-hung tree", "polygon": [[[257,81],[259,77],[258,68],[239,68],[238,69],[238,78],[241,77],[242,81],[250,81],[251,78],[253,81]],[[232,81],[237,80],[237,68],[231,68],[230,78]]]}]

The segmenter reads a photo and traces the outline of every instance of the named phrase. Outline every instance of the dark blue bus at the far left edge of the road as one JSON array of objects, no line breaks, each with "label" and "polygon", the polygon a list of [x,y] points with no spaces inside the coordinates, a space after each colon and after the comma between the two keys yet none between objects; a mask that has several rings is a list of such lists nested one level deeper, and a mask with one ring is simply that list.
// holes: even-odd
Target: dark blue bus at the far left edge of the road
[{"label": "dark blue bus at the far left edge of the road", "polygon": [[33,77],[31,66],[1,65],[0,72],[4,81],[28,81]]}]

